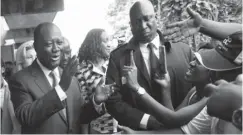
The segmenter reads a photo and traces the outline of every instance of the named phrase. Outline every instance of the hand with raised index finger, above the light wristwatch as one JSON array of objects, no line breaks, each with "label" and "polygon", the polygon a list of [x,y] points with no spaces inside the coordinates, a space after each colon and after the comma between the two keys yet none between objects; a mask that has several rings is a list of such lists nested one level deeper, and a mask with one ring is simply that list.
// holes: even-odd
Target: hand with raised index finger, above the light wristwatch
[{"label": "hand with raised index finger, above the light wristwatch", "polygon": [[123,75],[126,78],[126,85],[133,90],[137,90],[140,85],[137,81],[137,67],[135,65],[133,50],[130,52],[130,65],[123,67]]}]

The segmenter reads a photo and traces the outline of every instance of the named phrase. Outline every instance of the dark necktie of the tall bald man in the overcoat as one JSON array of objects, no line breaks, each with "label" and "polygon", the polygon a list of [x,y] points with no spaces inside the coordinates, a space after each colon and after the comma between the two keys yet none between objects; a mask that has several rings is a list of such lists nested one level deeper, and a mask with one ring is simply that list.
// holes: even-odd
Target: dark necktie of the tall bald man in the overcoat
[{"label": "dark necktie of the tall bald man in the overcoat", "polygon": [[[154,53],[154,44],[153,43],[149,43],[148,44],[148,48],[150,50],[150,56],[149,56],[149,60],[150,60],[150,76],[151,78],[154,77],[158,66],[159,66],[159,60],[156,57],[155,53]],[[153,79],[152,79],[153,80]]]}]

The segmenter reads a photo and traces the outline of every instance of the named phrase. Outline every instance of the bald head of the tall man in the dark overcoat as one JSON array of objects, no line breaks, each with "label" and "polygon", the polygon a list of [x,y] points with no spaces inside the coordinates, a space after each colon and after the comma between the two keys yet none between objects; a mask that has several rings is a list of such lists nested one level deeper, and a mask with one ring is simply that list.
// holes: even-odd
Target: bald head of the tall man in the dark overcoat
[{"label": "bald head of the tall man in the dark overcoat", "polygon": [[157,33],[155,12],[148,0],[137,1],[130,9],[130,21],[133,37],[142,43],[151,42]]}]

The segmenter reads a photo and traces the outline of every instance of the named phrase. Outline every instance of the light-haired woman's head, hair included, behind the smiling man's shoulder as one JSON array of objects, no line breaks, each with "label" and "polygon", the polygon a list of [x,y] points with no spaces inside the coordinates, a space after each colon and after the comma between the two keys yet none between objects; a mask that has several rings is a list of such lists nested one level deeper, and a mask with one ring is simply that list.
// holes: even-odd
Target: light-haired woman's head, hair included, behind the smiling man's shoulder
[{"label": "light-haired woman's head, hair included, behind the smiling man's shoulder", "polygon": [[28,67],[36,58],[33,46],[34,41],[30,40],[20,45],[16,52],[16,72]]}]

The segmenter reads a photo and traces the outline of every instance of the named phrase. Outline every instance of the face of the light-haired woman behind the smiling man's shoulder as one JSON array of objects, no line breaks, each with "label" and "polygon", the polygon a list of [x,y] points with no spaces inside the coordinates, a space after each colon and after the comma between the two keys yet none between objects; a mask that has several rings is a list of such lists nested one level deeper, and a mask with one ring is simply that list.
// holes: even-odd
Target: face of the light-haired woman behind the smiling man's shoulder
[{"label": "face of the light-haired woman behind the smiling man's shoulder", "polygon": [[28,67],[29,65],[32,64],[32,62],[35,60],[36,58],[36,52],[34,49],[29,49],[26,51],[26,56],[25,56],[25,59],[22,63],[22,68],[26,68]]}]

